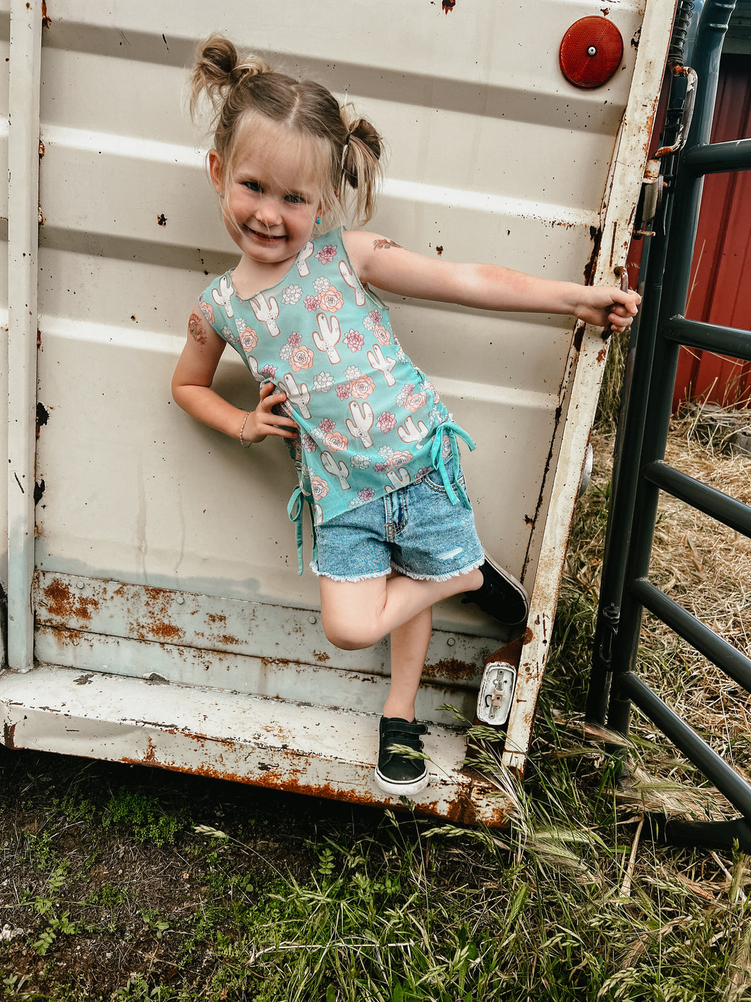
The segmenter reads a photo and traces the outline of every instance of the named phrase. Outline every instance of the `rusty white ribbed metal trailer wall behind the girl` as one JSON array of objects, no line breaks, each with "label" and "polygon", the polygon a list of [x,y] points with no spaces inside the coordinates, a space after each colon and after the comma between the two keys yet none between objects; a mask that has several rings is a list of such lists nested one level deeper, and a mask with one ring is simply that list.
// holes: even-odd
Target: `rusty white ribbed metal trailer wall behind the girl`
[{"label": "rusty white ribbed metal trailer wall behind the girl", "polygon": [[[205,137],[185,112],[185,67],[219,30],[346,94],[390,143],[372,228],[403,245],[616,283],[673,4],[615,2],[606,14],[560,0],[42,6],[0,5],[10,24],[5,742],[389,803],[372,781],[386,644],[326,641],[315,579],[296,574],[283,447],[241,450],[170,400],[191,306],[236,255],[205,176]],[[609,17],[625,41],[615,76],[592,90],[558,65],[584,16]],[[567,319],[391,305],[407,351],[478,444],[464,465],[481,537],[532,594],[504,753],[521,772],[605,343],[598,331],[575,336]],[[216,385],[253,406],[239,360],[222,360]],[[503,642],[459,600],[435,611],[418,707],[432,724],[421,810],[504,820],[504,799],[462,769],[465,739],[441,709],[473,718],[484,663]]]}]

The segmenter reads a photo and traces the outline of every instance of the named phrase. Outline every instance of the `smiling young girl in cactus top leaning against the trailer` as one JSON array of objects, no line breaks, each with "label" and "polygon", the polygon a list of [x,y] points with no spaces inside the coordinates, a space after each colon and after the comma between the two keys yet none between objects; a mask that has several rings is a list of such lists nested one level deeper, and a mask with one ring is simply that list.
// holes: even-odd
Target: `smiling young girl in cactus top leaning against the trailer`
[{"label": "smiling young girl in cactus top leaning against the trailer", "polygon": [[[621,331],[639,297],[536,279],[492,265],[424,258],[365,223],[380,180],[381,138],[322,86],[240,58],[214,35],[192,72],[215,111],[211,182],[240,260],[201,294],[172,393],[192,417],[239,440],[285,439],[302,512],[313,525],[311,569],[331,643],[367,647],[391,634],[392,680],[376,768],[389,794],[428,785],[426,726],[415,696],[435,602],[466,592],[511,627],[524,624],[522,585],[483,551],[459,464],[458,439],[435,387],[408,358],[373,290],[486,310],[570,314]],[[260,383],[242,411],[211,382],[231,345]],[[397,745],[393,749],[393,745]]]}]

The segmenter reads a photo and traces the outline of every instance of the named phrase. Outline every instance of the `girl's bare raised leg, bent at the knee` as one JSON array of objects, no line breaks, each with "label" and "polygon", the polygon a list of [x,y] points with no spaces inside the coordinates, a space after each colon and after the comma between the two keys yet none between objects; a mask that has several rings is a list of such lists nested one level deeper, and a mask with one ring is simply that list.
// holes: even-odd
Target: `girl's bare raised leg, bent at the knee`
[{"label": "girl's bare raised leg, bent at the knee", "polygon": [[326,636],[336,647],[359,650],[371,647],[436,602],[477,590],[483,575],[476,569],[448,581],[416,581],[401,574],[364,581],[332,581],[321,576],[318,584]]}]

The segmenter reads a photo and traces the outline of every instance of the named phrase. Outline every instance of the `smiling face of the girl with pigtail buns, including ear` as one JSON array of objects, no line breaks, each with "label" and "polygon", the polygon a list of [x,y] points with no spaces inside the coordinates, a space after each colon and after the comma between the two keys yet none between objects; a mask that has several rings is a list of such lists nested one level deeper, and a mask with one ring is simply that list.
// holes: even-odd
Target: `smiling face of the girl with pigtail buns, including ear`
[{"label": "smiling face of the girl with pigtail buns, including ear", "polygon": [[[269,130],[270,131],[270,130]],[[261,142],[245,142],[230,176],[216,150],[209,153],[211,180],[223,192],[227,232],[257,265],[291,263],[307,243],[320,208],[320,191],[298,144],[274,130]]]}]

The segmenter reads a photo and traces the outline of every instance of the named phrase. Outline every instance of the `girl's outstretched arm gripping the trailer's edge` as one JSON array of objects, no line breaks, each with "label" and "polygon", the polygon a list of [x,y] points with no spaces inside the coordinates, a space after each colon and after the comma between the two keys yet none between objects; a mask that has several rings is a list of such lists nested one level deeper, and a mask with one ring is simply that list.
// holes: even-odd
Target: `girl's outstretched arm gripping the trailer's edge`
[{"label": "girl's outstretched arm gripping the trailer's edge", "polygon": [[362,230],[344,234],[362,285],[440,303],[481,310],[568,314],[615,331],[625,330],[641,297],[604,286],[539,279],[500,265],[458,265],[406,250],[387,237]]}]

